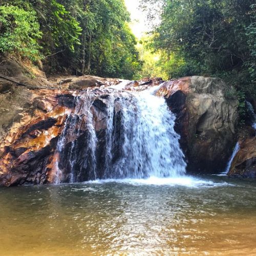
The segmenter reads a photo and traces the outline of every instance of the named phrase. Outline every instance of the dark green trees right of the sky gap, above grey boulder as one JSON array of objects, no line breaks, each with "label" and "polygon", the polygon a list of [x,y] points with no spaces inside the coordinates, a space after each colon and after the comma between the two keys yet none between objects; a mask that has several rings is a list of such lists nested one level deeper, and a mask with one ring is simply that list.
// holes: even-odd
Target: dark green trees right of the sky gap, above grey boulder
[{"label": "dark green trees right of the sky gap, above grey boulder", "polygon": [[[255,1],[157,2],[162,6],[161,22],[149,46],[161,53],[169,78],[218,76],[246,97],[256,97]],[[141,4],[151,12],[147,1]]]}]

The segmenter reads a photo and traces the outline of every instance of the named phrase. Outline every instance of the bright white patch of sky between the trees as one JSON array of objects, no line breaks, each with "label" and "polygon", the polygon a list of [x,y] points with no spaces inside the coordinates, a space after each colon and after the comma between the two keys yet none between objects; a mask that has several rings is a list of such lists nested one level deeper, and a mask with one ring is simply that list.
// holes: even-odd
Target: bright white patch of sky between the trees
[{"label": "bright white patch of sky between the trees", "polygon": [[131,13],[131,29],[135,36],[140,39],[143,33],[147,31],[145,25],[145,15],[139,10],[139,0],[125,0],[125,5]]}]

